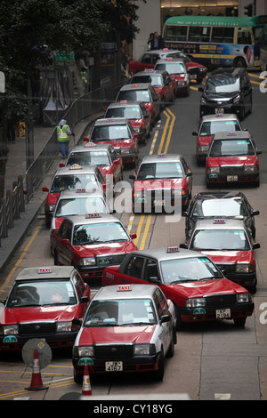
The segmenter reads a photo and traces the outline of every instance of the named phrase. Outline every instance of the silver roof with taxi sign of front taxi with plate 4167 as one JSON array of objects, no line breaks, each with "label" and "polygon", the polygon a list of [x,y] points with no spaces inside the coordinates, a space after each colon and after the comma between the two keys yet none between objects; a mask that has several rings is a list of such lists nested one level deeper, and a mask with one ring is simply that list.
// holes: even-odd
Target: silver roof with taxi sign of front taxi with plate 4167
[{"label": "silver roof with taxi sign of front taxi with plate 4167", "polygon": [[93,301],[110,299],[150,299],[156,288],[156,285],[125,285],[124,287],[122,285],[103,286],[95,293]]}]

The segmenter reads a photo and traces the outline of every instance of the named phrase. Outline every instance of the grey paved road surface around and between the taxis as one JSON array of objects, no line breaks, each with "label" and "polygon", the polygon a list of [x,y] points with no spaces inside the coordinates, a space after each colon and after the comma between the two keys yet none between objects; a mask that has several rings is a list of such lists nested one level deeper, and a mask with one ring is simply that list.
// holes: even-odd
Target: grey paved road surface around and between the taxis
[{"label": "grey paved road surface around and between the taxis", "polygon": [[[257,250],[258,289],[254,294],[255,314],[247,319],[244,329],[237,329],[232,322],[196,324],[188,326],[177,334],[178,342],[174,358],[166,359],[164,382],[153,382],[150,377],[119,376],[104,379],[92,377],[94,396],[123,395],[125,398],[141,394],[187,394],[193,400],[213,399],[267,399],[267,269],[265,252],[266,202],[267,202],[267,149],[266,149],[266,98],[259,92],[259,79],[253,75],[254,110],[243,122],[254,135],[261,156],[261,185],[259,188],[242,188],[255,209],[261,215],[256,217],[256,241],[261,244]],[[141,155],[159,152],[182,153],[193,172],[193,193],[205,189],[204,168],[196,165],[195,137],[191,132],[198,126],[199,92],[192,86],[190,97],[177,98],[175,104],[162,113],[161,120]],[[125,170],[125,179],[132,170]],[[138,237],[140,248],[179,245],[184,241],[184,220],[173,223],[166,221],[163,214],[133,215],[117,214]],[[49,248],[49,232],[44,224],[44,208],[38,213],[8,269],[0,276],[8,292],[12,279],[20,269],[32,265],[53,263]],[[13,269],[12,269],[13,268]],[[92,284],[93,292],[99,283]],[[264,314],[266,311],[266,315]],[[72,380],[70,353],[53,354],[52,363],[42,371],[48,390],[28,392],[24,388],[30,382],[31,370],[27,369],[20,356],[1,358],[0,398],[59,399],[68,393],[81,393],[81,386]]]}]

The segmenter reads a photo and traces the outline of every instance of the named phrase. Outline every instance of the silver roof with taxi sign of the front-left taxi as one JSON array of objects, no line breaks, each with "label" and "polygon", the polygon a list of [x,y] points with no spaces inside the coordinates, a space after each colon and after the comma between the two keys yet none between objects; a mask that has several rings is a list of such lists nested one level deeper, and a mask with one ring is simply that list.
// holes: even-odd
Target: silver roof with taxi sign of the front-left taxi
[{"label": "silver roof with taxi sign of the front-left taxi", "polygon": [[74,271],[75,268],[73,266],[27,267],[20,271],[20,274],[16,277],[16,281],[69,278]]}]

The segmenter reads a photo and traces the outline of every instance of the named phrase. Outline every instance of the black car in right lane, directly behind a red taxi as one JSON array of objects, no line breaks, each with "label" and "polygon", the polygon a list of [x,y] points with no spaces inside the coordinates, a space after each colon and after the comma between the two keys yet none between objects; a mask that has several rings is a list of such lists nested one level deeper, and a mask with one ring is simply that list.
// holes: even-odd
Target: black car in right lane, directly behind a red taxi
[{"label": "black car in right lane, directly behind a red taxi", "polygon": [[219,217],[242,219],[255,239],[256,211],[241,191],[200,191],[192,197],[185,216],[185,235],[188,239],[197,221],[201,219],[218,219]]}]

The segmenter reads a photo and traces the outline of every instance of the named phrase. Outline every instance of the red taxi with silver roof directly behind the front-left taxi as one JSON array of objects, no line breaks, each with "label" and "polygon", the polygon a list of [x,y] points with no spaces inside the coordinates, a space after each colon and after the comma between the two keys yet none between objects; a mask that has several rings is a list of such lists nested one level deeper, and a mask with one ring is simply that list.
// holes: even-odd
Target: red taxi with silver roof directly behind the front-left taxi
[{"label": "red taxi with silver roof directly behind the front-left taxi", "polygon": [[108,265],[120,264],[136,250],[121,221],[105,213],[66,217],[51,236],[55,265],[75,266],[84,280],[102,276]]}]

